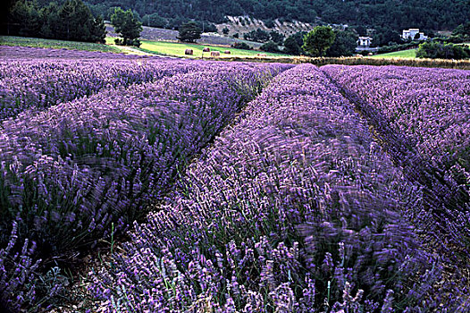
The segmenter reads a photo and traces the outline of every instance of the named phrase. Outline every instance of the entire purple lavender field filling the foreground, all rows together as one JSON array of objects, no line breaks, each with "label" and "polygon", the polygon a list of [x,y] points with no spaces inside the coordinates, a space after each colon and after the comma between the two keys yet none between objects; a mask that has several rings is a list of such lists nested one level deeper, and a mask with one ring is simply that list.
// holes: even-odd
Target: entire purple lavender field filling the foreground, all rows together
[{"label": "entire purple lavender field filling the foreground, all rows together", "polygon": [[0,62],[0,310],[470,311],[469,71],[61,54]]}]

